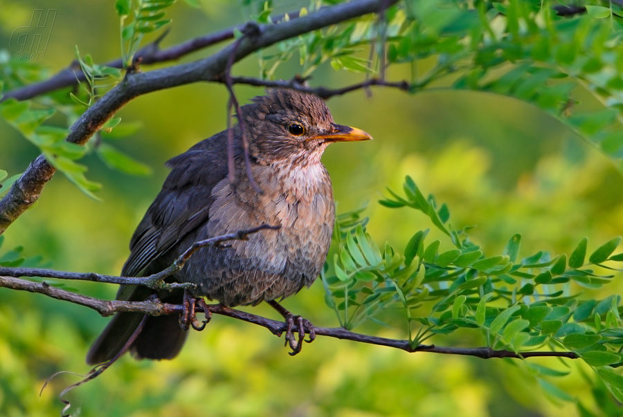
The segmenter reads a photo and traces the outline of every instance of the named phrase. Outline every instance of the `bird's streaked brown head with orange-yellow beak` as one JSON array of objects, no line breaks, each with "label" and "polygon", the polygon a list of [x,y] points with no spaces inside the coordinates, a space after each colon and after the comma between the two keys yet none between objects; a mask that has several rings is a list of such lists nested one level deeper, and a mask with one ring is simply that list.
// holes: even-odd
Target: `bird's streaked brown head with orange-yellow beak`
[{"label": "bird's streaked brown head with orange-yellow beak", "polygon": [[372,139],[364,131],[336,124],[325,102],[310,93],[269,89],[241,110],[251,156],[262,164],[317,163],[329,143]]}]

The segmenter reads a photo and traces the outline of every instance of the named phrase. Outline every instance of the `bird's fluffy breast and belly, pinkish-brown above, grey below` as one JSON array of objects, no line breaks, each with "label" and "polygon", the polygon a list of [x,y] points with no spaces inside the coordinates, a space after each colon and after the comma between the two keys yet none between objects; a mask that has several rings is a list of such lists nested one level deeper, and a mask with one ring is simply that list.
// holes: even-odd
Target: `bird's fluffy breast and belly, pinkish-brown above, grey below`
[{"label": "bird's fluffy breast and belly, pinkish-brown above, grey below", "polygon": [[[244,181],[218,183],[200,239],[263,224],[280,228],[232,241],[229,248],[206,248],[203,263],[187,268],[184,280],[230,306],[287,297],[311,285],[327,257],[335,219],[331,183],[324,167],[322,172],[323,181],[288,181],[269,167],[255,169],[262,193]],[[199,258],[189,261],[194,262]]]}]

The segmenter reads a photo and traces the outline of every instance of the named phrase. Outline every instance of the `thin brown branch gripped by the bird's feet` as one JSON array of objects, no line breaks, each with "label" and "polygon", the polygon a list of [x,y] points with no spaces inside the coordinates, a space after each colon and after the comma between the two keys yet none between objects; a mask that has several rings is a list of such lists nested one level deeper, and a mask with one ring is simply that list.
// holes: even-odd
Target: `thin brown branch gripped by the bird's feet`
[{"label": "thin brown branch gripped by the bird's feet", "polygon": [[[11,288],[13,290],[25,290],[30,291],[31,293],[40,293],[44,295],[48,295],[48,297],[53,297],[56,299],[62,299],[65,301],[73,302],[75,304],[80,304],[81,306],[87,306],[89,308],[93,308],[93,310],[100,313],[102,316],[109,316],[116,312],[138,312],[145,313],[147,315],[165,315],[165,314],[179,314],[182,312],[182,306],[175,304],[167,304],[161,302],[124,302],[124,301],[104,301],[100,299],[95,299],[92,297],[87,297],[84,295],[78,295],[75,293],[70,293],[69,291],[62,290],[60,288],[55,288],[42,283],[35,283],[30,281],[24,281],[23,279],[17,279],[12,277],[2,277],[0,276],[0,287]],[[200,306],[196,306],[197,311],[203,311]],[[242,320],[244,322],[249,322],[252,324],[257,324],[258,326],[265,327],[271,331],[274,335],[280,336],[281,333],[287,331],[287,323],[278,322],[276,320],[268,319],[266,317],[261,317],[258,315],[254,315],[251,313],[246,313],[244,311],[235,310],[233,308],[229,308],[223,306],[222,304],[209,304],[208,311],[213,314],[225,315],[227,317],[233,317],[235,319]],[[409,344],[408,340],[396,340],[396,339],[388,339],[386,337],[377,337],[377,336],[369,336],[362,335],[360,333],[353,333],[352,331],[347,331],[345,328],[328,328],[328,327],[314,327],[316,331],[316,335],[323,335],[327,337],[335,337],[337,339],[343,340],[352,340],[353,342],[361,342],[368,344],[376,344],[379,346],[388,346],[395,349],[401,349],[403,351],[414,353],[414,352],[428,352],[428,353],[442,353],[444,355],[467,355],[467,356],[475,356],[476,358],[482,359],[490,359],[490,358],[515,358],[515,359],[525,359],[525,358],[535,358],[535,357],[543,357],[543,356],[557,356],[561,358],[569,358],[569,359],[577,359],[579,356],[573,352],[556,352],[556,351],[546,351],[546,352],[519,352],[514,353],[513,351],[507,350],[494,350],[486,347],[481,348],[455,348],[455,347],[443,347],[443,346],[434,346],[434,345],[424,345],[421,344],[415,348],[412,348]]]}]

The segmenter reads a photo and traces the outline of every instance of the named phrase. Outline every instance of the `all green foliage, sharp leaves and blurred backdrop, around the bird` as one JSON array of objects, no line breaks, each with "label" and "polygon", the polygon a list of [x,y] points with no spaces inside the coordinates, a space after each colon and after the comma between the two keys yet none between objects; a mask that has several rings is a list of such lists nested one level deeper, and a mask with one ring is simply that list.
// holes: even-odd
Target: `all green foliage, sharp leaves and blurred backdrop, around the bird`
[{"label": "all green foliage, sharp leaves and blurred backdrop, around the bird", "polygon": [[[183,5],[160,3],[167,7],[143,15],[133,12],[129,23],[123,17],[128,10],[154,5],[118,1],[117,8],[80,8],[59,3],[68,15],[73,10],[87,20],[93,14],[107,17],[91,28],[92,37],[77,35],[80,24],[66,18],[63,32],[53,38],[56,46],[51,46],[57,50],[51,66],[58,69],[73,59],[77,45],[82,70],[91,75],[91,82],[32,103],[0,104],[8,138],[0,154],[0,166],[8,171],[0,177],[8,178],[0,178],[5,185],[0,192],[6,192],[15,174],[42,151],[71,182],[104,202],[82,198],[56,178],[38,207],[6,233],[7,242],[0,248],[4,263],[16,265],[25,252],[29,257],[44,255],[58,269],[118,272],[129,234],[165,172],[156,168],[156,178],[149,180],[122,176],[107,171],[93,156],[107,167],[147,174],[147,165],[135,158],[157,167],[224,127],[222,89],[190,86],[154,95],[157,102],[136,100],[87,147],[63,141],[85,104],[92,104],[118,80],[118,73],[95,62],[120,55],[128,62],[136,52],[143,38],[138,28],[149,26],[138,23],[141,16],[147,16],[145,22],[172,17],[176,29],[170,36],[177,36],[172,44],[241,21],[240,9],[224,2],[200,3],[201,18]],[[21,10],[28,17],[30,6],[8,4],[6,10]],[[320,5],[244,1],[242,10],[244,19],[262,22],[277,12],[301,6],[313,12]],[[370,131],[377,140],[368,147],[327,151],[325,163],[334,180],[338,211],[345,213],[323,275],[329,292],[318,280],[310,291],[287,300],[291,310],[320,325],[359,325],[358,331],[410,337],[414,343],[432,336],[435,344],[590,351],[586,362],[596,372],[579,361],[483,363],[328,340],[305,346],[300,357],[290,360],[281,341],[262,329],[217,317],[208,331],[192,335],[177,360],[147,363],[123,358],[98,380],[73,391],[73,405],[85,415],[134,416],[408,416],[414,410],[425,416],[525,415],[523,407],[539,415],[620,415],[613,395],[621,396],[622,377],[608,367],[620,362],[615,295],[620,290],[616,278],[610,283],[611,278],[594,276],[607,275],[608,270],[597,272],[592,265],[611,256],[606,252],[617,242],[610,239],[623,230],[623,181],[606,162],[609,158],[621,169],[620,10],[616,3],[595,3],[586,15],[563,18],[554,15],[553,6],[540,1],[401,2],[386,10],[385,20],[365,17],[285,41],[235,71],[258,73],[259,58],[260,77],[313,74],[312,84],[329,86],[350,84],[352,72],[379,76],[384,71],[391,79],[410,81],[415,93],[374,91],[371,100],[347,95],[329,102],[338,122]],[[123,52],[119,19],[121,30],[134,25],[122,32],[127,42]],[[204,19],[200,28],[186,24],[197,19]],[[1,21],[2,39],[8,44],[21,22],[8,16]],[[150,29],[155,32],[145,30],[143,41],[161,35],[159,28]],[[46,55],[53,57],[53,51]],[[4,91],[44,80],[51,72],[20,61],[8,50],[1,57]],[[381,71],[383,63],[390,66]],[[440,90],[453,93],[435,93]],[[259,93],[237,91],[245,96]],[[11,127],[38,150],[9,133]],[[94,180],[84,176],[86,166]],[[406,175],[415,182],[405,183]],[[105,187],[92,194],[99,189],[97,183]],[[437,199],[424,197],[427,193],[415,183]],[[395,190],[403,184],[404,194],[382,191],[386,185]],[[379,196],[394,207],[378,205]],[[373,202],[365,211],[348,214],[366,200]],[[76,203],[68,206],[69,201]],[[478,228],[455,230],[474,223]],[[590,242],[588,252],[584,236]],[[611,243],[599,249],[606,241]],[[7,252],[22,244],[25,250]],[[602,284],[608,285],[595,288]],[[114,288],[93,284],[75,287],[100,297],[114,294]],[[577,297],[580,290],[589,292]],[[56,413],[60,403],[55,393],[73,380],[53,380],[42,399],[35,400],[39,387],[55,371],[86,371],[84,352],[104,323],[82,308],[35,297],[0,292],[0,327],[6,335],[0,339],[0,411],[8,416]],[[323,297],[335,312],[320,308]],[[253,312],[273,314],[261,306]],[[530,385],[535,380],[541,392]],[[552,406],[543,392],[564,409]]]}]

